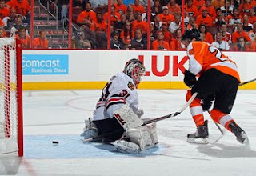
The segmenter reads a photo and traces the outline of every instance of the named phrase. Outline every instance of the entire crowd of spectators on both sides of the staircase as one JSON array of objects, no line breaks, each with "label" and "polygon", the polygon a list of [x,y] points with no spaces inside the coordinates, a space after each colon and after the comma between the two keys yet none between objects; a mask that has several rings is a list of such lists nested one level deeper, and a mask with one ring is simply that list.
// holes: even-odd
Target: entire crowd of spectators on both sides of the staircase
[{"label": "entire crowd of spectators on both sides of the staircase", "polygon": [[[69,0],[53,2],[66,26]],[[148,0],[111,0],[108,11],[108,0],[73,0],[73,22],[79,30],[72,47],[104,50],[110,40],[113,50],[186,50],[182,32],[194,29],[220,50],[256,51],[256,0],[185,2],[182,11],[182,0],[150,0],[150,7]],[[30,40],[29,0],[0,0],[0,38],[9,36],[20,38],[22,48],[49,46],[44,30]]]}]

